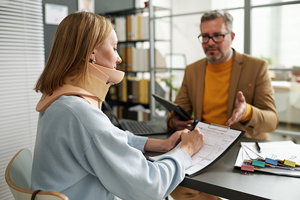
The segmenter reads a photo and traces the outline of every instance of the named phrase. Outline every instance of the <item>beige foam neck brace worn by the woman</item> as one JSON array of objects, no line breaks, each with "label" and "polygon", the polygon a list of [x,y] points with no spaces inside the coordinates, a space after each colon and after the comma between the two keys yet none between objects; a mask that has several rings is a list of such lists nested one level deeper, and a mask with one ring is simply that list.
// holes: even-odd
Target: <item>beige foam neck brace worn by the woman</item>
[{"label": "beige foam neck brace worn by the woman", "polygon": [[67,77],[65,83],[58,89],[49,94],[42,94],[35,110],[44,111],[53,101],[62,95],[77,95],[86,99],[90,104],[101,108],[110,85],[119,83],[124,72],[106,68],[97,64],[88,63],[89,83],[83,84],[82,81],[75,81],[75,78]]}]

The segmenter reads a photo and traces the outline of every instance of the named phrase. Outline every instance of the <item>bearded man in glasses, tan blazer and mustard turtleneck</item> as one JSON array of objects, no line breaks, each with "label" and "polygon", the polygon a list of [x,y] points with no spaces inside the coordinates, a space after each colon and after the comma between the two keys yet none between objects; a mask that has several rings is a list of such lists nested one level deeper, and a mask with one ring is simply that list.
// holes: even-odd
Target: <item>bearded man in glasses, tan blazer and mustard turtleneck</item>
[{"label": "bearded man in glasses, tan blazer and mustard turtleneck", "polygon": [[[221,10],[203,14],[198,38],[206,58],[186,66],[174,102],[199,121],[246,130],[245,137],[268,139],[267,132],[277,127],[278,115],[267,62],[230,47],[235,35],[232,20]],[[167,122],[177,130],[188,128],[193,120],[181,121],[172,110]],[[171,196],[175,200],[218,199],[181,186]]]}]

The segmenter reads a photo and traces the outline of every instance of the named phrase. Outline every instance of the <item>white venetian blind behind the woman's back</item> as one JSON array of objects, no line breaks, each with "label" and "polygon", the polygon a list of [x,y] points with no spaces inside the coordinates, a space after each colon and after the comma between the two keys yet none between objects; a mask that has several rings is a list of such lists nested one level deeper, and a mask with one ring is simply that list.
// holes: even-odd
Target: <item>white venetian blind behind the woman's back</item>
[{"label": "white venetian blind behind the woman's back", "polygon": [[13,199],[5,168],[21,148],[33,152],[44,66],[41,0],[0,0],[0,199]]}]

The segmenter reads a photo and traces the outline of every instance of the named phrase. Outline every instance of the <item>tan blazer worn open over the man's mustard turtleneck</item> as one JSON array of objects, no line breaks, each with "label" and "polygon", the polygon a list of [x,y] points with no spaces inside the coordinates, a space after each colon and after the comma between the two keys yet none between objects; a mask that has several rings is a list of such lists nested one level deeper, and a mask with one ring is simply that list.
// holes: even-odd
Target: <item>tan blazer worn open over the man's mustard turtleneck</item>
[{"label": "tan blazer worn open over the man's mustard turtleneck", "polygon": [[[175,103],[201,121],[203,106],[203,88],[206,58],[198,60],[185,68],[182,85]],[[246,102],[252,105],[251,119],[230,127],[246,130],[245,137],[268,139],[268,133],[276,129],[278,114],[275,107],[273,89],[267,70],[267,62],[234,50],[227,100],[227,118],[234,109],[236,93],[242,91]],[[170,115],[167,118],[169,120]]]}]

